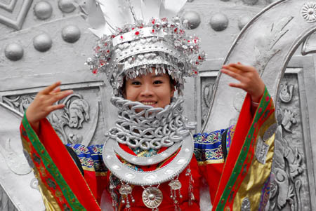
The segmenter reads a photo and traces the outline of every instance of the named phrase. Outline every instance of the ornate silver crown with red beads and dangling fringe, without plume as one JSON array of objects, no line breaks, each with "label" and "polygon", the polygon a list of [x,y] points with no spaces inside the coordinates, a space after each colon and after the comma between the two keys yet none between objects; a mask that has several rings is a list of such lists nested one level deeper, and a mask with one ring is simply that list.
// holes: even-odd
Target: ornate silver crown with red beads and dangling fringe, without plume
[{"label": "ornate silver crown with red beads and dangling fringe, without plume", "polygon": [[185,76],[196,76],[198,66],[205,60],[199,49],[199,39],[187,36],[180,18],[154,19],[144,23],[117,28],[112,35],[104,35],[94,48],[95,55],[88,58],[93,74],[105,72],[113,87],[114,95],[121,95],[125,79],[140,74],[168,73],[174,81],[178,94],[183,94]]}]

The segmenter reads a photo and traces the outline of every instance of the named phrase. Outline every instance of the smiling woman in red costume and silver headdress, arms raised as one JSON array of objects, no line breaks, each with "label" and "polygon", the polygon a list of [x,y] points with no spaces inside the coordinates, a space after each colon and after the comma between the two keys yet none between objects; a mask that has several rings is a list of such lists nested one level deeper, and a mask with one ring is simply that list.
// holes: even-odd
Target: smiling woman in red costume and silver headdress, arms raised
[{"label": "smiling woman in red costume and silver headdress, arms raised", "polygon": [[[160,11],[168,13],[182,5],[146,2],[164,4]],[[94,6],[101,10],[100,4]],[[118,8],[131,17],[138,14],[131,5]],[[223,66],[224,74],[239,81],[229,86],[248,93],[237,125],[192,135],[196,124],[184,116],[181,96],[184,77],[196,76],[205,60],[199,39],[185,35],[178,17],[159,15],[101,34],[107,35],[87,64],[93,73],[105,72],[113,88],[111,102],[118,109],[104,144],[69,144],[67,149],[62,144],[46,120],[51,111],[65,106],[55,102],[73,93],[61,91],[60,82],[41,90],[22,120],[23,146],[34,163],[46,208],[199,210],[204,177],[213,210],[240,210],[245,205],[264,210],[275,109],[256,69],[240,63]]]}]

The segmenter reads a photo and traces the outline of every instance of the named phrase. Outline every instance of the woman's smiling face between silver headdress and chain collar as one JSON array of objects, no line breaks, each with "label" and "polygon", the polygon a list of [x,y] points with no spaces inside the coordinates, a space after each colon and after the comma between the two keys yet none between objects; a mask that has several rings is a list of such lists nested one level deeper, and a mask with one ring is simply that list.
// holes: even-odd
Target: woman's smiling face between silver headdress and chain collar
[{"label": "woman's smiling face between silver headdress and chain collar", "polygon": [[125,83],[124,98],[164,108],[170,104],[174,91],[168,74],[156,75],[152,72],[136,79],[128,79]]}]

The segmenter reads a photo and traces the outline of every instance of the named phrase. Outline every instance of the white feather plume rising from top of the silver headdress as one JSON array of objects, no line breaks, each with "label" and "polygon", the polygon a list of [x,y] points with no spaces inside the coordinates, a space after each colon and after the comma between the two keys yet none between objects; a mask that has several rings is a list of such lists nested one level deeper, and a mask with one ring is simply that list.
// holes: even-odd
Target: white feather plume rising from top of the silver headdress
[{"label": "white feather plume rising from top of the silver headdress", "polygon": [[88,0],[79,4],[98,37],[113,34],[114,29],[134,24],[136,20],[149,22],[152,18],[172,18],[187,0]]}]

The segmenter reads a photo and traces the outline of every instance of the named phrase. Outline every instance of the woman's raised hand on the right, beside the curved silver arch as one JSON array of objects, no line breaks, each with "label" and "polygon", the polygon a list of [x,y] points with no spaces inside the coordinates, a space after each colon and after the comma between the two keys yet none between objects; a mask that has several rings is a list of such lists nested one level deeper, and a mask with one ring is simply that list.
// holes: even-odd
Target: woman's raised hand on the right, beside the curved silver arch
[{"label": "woman's raised hand on the right, beside the curved silver arch", "polygon": [[256,68],[246,66],[240,62],[223,65],[221,72],[238,80],[240,83],[230,83],[229,86],[241,88],[251,95],[253,102],[259,102],[265,91],[265,84]]}]

